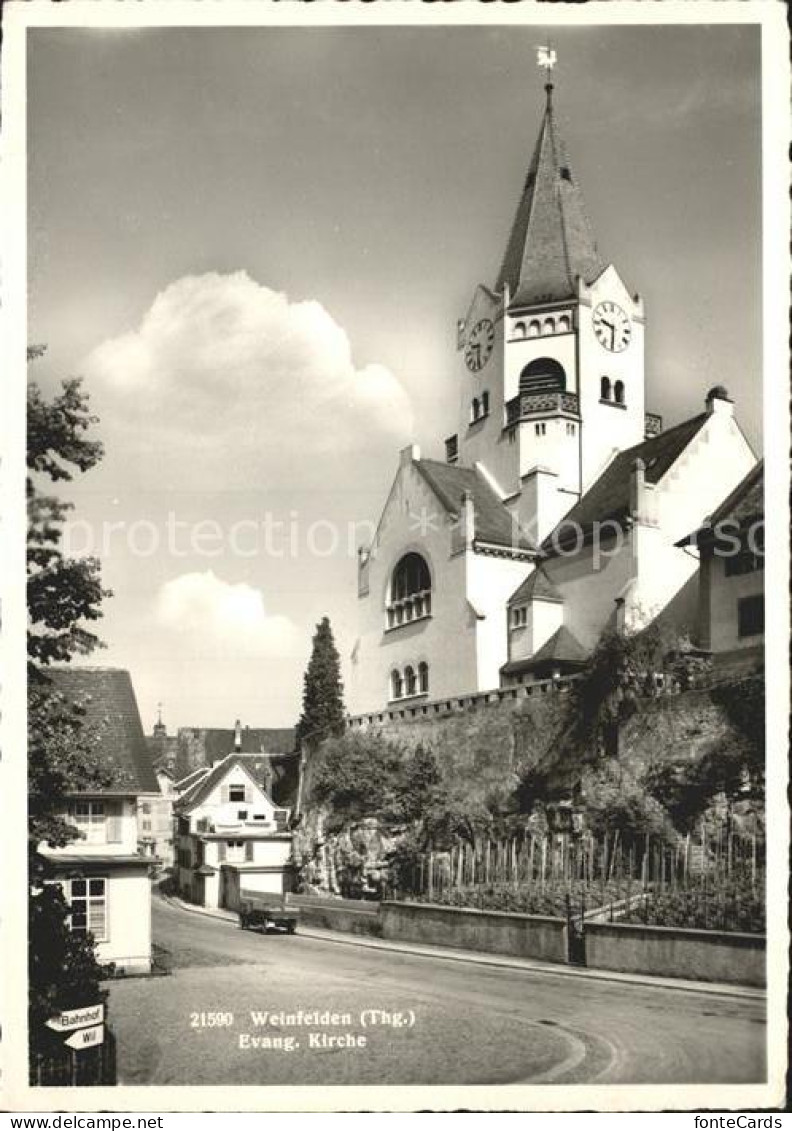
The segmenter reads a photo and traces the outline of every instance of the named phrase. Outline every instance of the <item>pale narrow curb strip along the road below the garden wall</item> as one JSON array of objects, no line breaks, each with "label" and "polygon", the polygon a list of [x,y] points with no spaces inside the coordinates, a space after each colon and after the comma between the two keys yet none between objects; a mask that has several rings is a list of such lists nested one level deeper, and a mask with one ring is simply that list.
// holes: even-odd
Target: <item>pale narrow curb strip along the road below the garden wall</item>
[{"label": "pale narrow curb strip along the road below the garden wall", "polygon": [[[181,910],[222,923],[236,923],[233,912],[215,910],[186,904],[177,896],[157,892],[163,903]],[[367,939],[362,935],[344,935],[338,931],[322,931],[317,927],[300,927],[299,934],[307,939],[319,939],[342,947],[368,947],[370,950],[387,950],[419,958],[440,958],[453,962],[471,962],[474,966],[493,966],[501,969],[522,970],[551,975],[560,978],[584,978],[594,982],[613,982],[621,985],[638,985],[646,990],[677,990],[680,993],[711,994],[716,998],[740,998],[748,1001],[765,1001],[764,990],[754,986],[730,985],[724,982],[686,982],[682,978],[663,978],[652,974],[623,974],[619,970],[594,970],[588,967],[560,966],[556,962],[540,962],[528,958],[490,955],[473,950],[453,950],[446,947],[423,947],[420,943],[395,942],[393,940]]]}]

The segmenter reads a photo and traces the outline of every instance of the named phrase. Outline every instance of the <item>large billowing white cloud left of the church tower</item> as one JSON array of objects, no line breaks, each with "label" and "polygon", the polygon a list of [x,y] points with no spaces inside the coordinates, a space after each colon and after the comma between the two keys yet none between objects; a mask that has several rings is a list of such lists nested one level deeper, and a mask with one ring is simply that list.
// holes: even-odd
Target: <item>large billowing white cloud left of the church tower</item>
[{"label": "large billowing white cloud left of the church tower", "polygon": [[356,369],[320,303],[290,302],[244,271],[172,283],[84,372],[103,428],[132,437],[171,482],[189,451],[190,485],[221,464],[225,482],[246,468],[293,482],[300,465],[316,475],[322,456],[393,450],[412,432],[399,382],[378,364]]}]

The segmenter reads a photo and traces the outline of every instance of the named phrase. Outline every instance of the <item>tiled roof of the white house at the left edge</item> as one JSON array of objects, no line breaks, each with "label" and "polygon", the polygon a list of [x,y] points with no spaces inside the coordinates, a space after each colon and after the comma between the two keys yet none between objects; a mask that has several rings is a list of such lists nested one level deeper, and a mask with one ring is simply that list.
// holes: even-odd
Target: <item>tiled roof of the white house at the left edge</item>
[{"label": "tiled roof of the white house at the left edge", "polygon": [[84,711],[84,728],[112,767],[111,793],[160,793],[129,672],[118,667],[50,667],[54,688]]}]

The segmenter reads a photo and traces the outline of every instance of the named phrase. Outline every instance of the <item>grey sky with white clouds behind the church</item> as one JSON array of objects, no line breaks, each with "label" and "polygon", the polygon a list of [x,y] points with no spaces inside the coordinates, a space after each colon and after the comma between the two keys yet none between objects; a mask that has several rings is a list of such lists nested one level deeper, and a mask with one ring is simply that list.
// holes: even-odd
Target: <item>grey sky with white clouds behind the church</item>
[{"label": "grey sky with white clouds behind the church", "polygon": [[456,320],[539,130],[535,48],[601,252],[647,313],[647,409],[724,385],[761,449],[750,26],[35,28],[28,339],[83,375],[102,464],[62,493],[113,590],[92,663],[149,731],[289,726],[398,449],[442,458]]}]

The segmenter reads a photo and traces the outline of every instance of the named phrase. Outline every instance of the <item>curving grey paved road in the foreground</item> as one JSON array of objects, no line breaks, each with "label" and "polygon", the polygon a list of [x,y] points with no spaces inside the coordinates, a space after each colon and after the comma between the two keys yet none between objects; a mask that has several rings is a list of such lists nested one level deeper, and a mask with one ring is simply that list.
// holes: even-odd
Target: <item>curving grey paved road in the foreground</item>
[{"label": "curving grey paved road in the foreground", "polygon": [[740,1083],[765,1076],[765,1010],[756,999],[260,935],[158,898],[154,930],[173,974],[111,983],[121,1083]]}]

